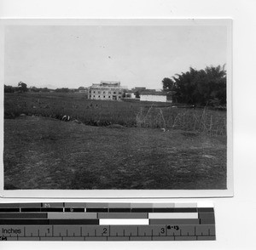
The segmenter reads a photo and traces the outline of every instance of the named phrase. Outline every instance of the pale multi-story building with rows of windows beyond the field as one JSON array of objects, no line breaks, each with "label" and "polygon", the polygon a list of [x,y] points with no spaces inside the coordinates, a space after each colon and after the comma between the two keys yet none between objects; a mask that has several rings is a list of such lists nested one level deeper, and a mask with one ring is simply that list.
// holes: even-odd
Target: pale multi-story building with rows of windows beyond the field
[{"label": "pale multi-story building with rows of windows beyond the field", "polygon": [[120,82],[92,83],[88,88],[88,99],[121,100],[126,89]]}]

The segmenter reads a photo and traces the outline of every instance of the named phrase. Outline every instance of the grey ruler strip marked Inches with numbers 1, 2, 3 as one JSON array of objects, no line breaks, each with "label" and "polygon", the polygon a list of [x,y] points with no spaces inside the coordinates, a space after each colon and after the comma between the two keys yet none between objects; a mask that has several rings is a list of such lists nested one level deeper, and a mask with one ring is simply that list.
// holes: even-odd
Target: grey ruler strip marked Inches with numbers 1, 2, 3
[{"label": "grey ruler strip marked Inches with numbers 1, 2, 3", "polygon": [[2,237],[215,236],[214,225],[2,225]]}]

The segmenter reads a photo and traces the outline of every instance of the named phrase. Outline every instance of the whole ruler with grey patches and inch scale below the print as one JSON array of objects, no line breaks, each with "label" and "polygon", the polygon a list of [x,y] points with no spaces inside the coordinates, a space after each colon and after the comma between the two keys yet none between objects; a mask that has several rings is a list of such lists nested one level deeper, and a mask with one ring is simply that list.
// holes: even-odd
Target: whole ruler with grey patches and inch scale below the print
[{"label": "whole ruler with grey patches and inch scale below the print", "polygon": [[195,203],[1,203],[1,241],[213,241],[213,207]]}]

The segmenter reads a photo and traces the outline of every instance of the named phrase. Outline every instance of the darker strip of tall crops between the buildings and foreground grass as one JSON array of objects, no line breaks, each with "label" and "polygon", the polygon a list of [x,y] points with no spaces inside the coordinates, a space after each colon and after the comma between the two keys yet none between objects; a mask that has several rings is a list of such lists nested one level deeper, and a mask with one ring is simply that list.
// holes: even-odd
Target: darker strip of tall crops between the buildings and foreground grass
[{"label": "darker strip of tall crops between the buildings and foreground grass", "polygon": [[84,94],[27,93],[4,95],[4,117],[71,116],[86,125],[183,129],[211,136],[226,134],[226,111],[172,108],[170,103],[85,99]]}]

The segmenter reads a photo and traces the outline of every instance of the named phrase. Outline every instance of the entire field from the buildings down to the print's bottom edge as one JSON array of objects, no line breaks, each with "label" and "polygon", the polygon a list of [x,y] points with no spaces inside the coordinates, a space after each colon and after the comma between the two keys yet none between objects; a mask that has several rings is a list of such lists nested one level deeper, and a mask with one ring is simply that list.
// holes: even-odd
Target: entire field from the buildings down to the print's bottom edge
[{"label": "entire field from the buildings down to the print's bottom edge", "polygon": [[5,189],[226,188],[223,111],[7,94],[4,112]]}]

